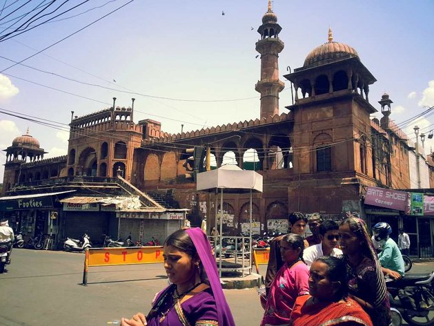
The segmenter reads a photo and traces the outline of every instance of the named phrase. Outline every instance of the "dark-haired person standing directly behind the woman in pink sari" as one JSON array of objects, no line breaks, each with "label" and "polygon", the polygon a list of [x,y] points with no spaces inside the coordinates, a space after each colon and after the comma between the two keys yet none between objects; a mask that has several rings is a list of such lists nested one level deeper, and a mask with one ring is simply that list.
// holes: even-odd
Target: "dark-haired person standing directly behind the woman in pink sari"
[{"label": "dark-haired person standing directly behind the woman in pink sari", "polygon": [[[302,236],[302,238],[304,238],[304,232],[306,231],[307,221],[308,220],[303,213],[297,211],[291,213],[288,217],[290,233],[297,234],[299,236]],[[267,271],[265,275],[265,289],[267,294],[268,291],[270,290],[271,282],[273,282],[277,271],[284,264],[282,261],[282,256],[280,255],[280,247],[279,247],[279,243],[282,240],[282,238],[284,238],[284,236],[278,236],[277,238],[274,238],[273,240],[270,241],[270,253],[268,254],[268,265],[267,265]],[[304,240],[303,243],[304,243],[304,248],[309,247],[309,244],[306,241],[306,239]]]}]

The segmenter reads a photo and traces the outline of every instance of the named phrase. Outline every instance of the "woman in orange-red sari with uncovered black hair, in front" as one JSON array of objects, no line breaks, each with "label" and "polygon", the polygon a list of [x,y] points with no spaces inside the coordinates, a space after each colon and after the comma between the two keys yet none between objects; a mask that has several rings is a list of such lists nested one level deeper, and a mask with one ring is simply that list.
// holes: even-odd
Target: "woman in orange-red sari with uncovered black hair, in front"
[{"label": "woman in orange-red sari with uncovered black hair, in front", "polygon": [[366,311],[348,298],[344,260],[332,256],[317,258],[310,267],[309,294],[295,300],[289,325],[373,326]]}]

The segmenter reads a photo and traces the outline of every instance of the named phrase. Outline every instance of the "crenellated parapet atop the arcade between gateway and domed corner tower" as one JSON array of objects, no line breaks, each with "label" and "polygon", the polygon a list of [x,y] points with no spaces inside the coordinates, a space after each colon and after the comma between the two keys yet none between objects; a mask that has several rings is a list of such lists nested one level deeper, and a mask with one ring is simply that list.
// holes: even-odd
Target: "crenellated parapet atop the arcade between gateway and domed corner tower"
[{"label": "crenellated parapet atop the arcade between gateway and domed corner tower", "polygon": [[262,117],[261,119],[250,119],[249,121],[244,120],[241,122],[234,122],[233,124],[222,124],[221,126],[213,126],[211,128],[202,128],[196,131],[187,131],[186,133],[170,134],[164,133],[163,131],[157,132],[155,137],[142,140],[142,144],[155,144],[159,142],[172,142],[175,140],[185,140],[188,138],[199,137],[203,135],[213,135],[218,133],[227,133],[228,131],[239,131],[245,128],[251,128],[254,126],[266,126],[269,124],[275,124],[276,122],[284,122],[287,120],[292,120],[292,113],[282,113],[281,115],[273,115],[269,117]]}]

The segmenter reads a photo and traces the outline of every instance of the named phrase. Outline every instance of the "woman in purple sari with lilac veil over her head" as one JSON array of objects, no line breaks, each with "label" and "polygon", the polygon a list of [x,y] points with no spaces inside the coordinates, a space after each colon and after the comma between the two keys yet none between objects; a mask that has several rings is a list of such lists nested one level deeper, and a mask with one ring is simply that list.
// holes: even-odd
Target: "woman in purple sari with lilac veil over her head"
[{"label": "woman in purple sari with lilac veil over her head", "polygon": [[205,233],[178,230],[164,242],[164,269],[172,285],[157,294],[148,316],[121,326],[235,326]]}]

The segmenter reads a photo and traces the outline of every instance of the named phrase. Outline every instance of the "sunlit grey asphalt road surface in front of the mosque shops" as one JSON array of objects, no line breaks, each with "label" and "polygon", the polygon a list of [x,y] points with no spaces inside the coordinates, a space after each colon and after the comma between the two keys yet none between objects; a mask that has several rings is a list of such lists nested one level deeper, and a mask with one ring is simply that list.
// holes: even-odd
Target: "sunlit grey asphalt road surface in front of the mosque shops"
[{"label": "sunlit grey asphalt road surface in front of the mosque shops", "polygon": [[[0,275],[0,325],[109,325],[111,320],[148,312],[166,284],[161,264],[91,267],[83,278],[83,253],[14,249],[7,274]],[[433,262],[415,263],[428,272]],[[264,275],[266,265],[260,267]],[[224,290],[236,325],[259,325],[263,309],[255,289]]]}]

